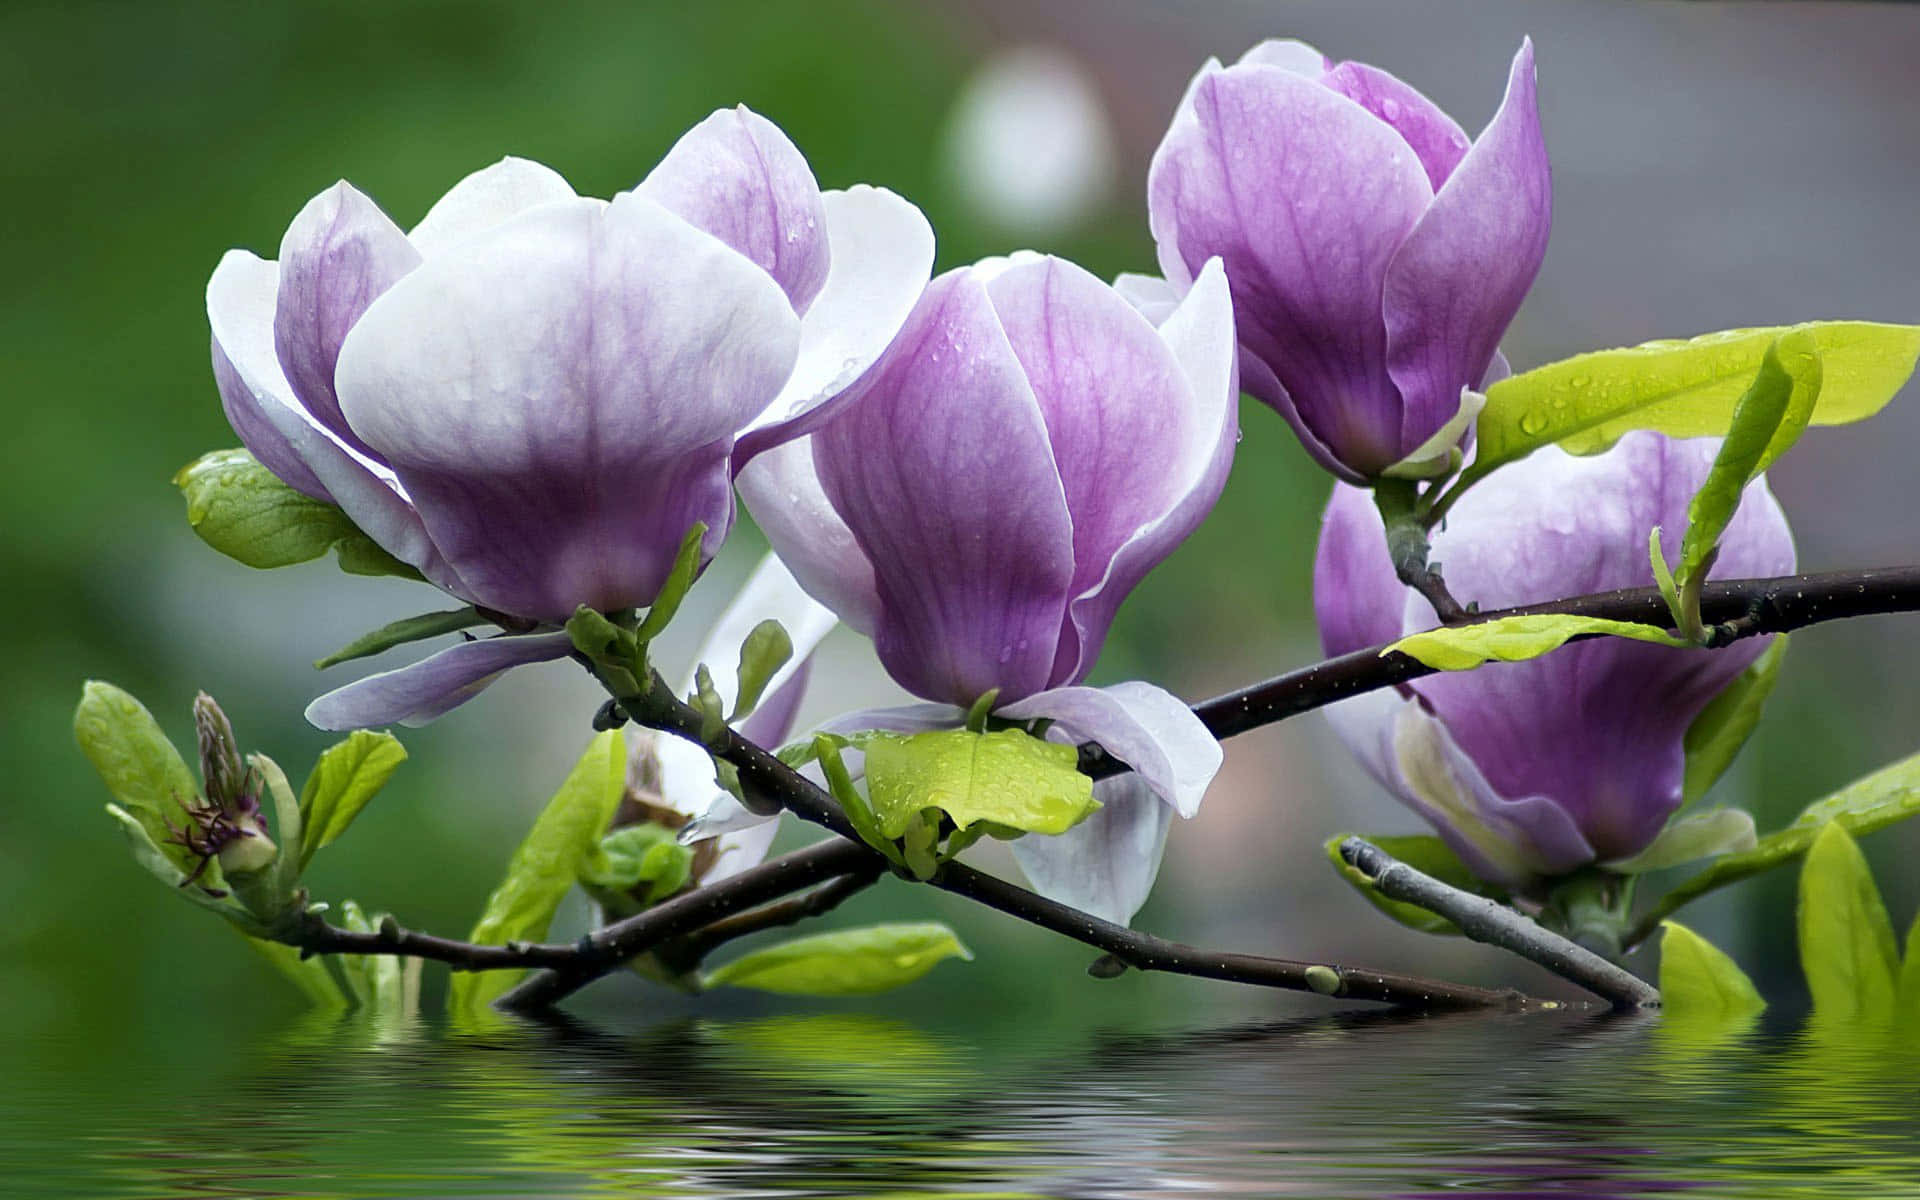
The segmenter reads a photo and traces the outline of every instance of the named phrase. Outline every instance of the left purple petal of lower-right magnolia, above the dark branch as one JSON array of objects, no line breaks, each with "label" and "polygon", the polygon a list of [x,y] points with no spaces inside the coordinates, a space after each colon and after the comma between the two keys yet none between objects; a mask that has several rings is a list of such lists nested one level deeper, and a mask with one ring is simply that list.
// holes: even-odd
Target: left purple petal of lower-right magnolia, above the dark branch
[{"label": "left purple petal of lower-right magnolia, above the dark branch", "polygon": [[1334,484],[1313,559],[1321,649],[1336,657],[1396,641],[1407,632],[1405,611],[1405,588],[1386,555],[1386,526],[1373,492]]}]

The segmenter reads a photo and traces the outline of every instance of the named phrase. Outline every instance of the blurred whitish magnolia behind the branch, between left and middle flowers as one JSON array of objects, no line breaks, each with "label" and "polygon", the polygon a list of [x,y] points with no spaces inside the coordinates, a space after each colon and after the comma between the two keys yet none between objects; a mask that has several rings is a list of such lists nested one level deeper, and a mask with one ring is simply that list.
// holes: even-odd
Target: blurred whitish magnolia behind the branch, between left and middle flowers
[{"label": "blurred whitish magnolia behind the branch, between left and middle flowers", "polygon": [[[793,730],[810,657],[837,618],[801,591],[780,559],[762,559],[693,657],[707,664],[728,708],[739,695],[739,645],[762,620],[785,626],[793,657],[774,672],[758,707],[737,730],[755,745],[778,747]],[[689,672],[682,693],[691,689]],[[745,808],[714,781],[714,762],[705,747],[655,730],[628,730],[626,743],[628,789],[614,826],[651,820],[684,829],[693,845],[693,887],[718,883],[766,858],[780,829],[778,818],[737,820]]]}]

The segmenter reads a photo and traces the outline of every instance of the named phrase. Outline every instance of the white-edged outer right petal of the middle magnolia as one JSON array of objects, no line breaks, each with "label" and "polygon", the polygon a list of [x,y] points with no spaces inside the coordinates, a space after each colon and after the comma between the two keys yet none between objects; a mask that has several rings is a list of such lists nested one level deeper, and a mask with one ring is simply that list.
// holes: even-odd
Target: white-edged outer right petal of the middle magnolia
[{"label": "white-edged outer right petal of the middle magnolia", "polygon": [[[1160,338],[1187,384],[1179,401],[1183,436],[1158,445],[1154,467],[1165,480],[1167,503],[1135,526],[1094,586],[1073,599],[1069,612],[1079,655],[1068,670],[1056,664],[1056,682],[1079,682],[1092,670],[1121,601],[1200,526],[1227,486],[1240,434],[1240,376],[1233,300],[1219,259],[1202,267],[1187,298],[1160,323]],[[1098,420],[1110,417],[1102,413]],[[1075,528],[1077,518],[1079,509]]]}]

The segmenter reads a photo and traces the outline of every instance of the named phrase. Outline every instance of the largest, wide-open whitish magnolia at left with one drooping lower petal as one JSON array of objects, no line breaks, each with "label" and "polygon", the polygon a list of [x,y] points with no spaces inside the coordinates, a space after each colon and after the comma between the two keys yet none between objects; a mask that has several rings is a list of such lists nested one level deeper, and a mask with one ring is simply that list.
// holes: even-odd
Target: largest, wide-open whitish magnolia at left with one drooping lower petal
[{"label": "largest, wide-open whitish magnolia at left with one drooping lower petal", "polygon": [[[879,353],[933,234],[879,188],[822,192],[745,108],[612,202],[505,159],[401,232],[340,182],[280,261],[207,284],[213,371],[248,449],[445,591],[530,624],[649,605],[732,472]],[[432,718],[559,634],[457,645],[317,701],[323,728]]]}]

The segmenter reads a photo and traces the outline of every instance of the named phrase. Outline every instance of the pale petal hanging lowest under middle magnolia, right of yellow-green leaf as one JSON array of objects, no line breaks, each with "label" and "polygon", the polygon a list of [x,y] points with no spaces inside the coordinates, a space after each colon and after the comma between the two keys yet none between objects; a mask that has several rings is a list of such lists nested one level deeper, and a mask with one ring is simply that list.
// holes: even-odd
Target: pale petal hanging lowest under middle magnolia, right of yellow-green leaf
[{"label": "pale petal hanging lowest under middle magnolia, right of yellow-green leaf", "polygon": [[1173,808],[1140,776],[1100,780],[1092,795],[1100,808],[1087,820],[1052,837],[1018,839],[1014,860],[1043,897],[1125,925],[1154,891]]}]

